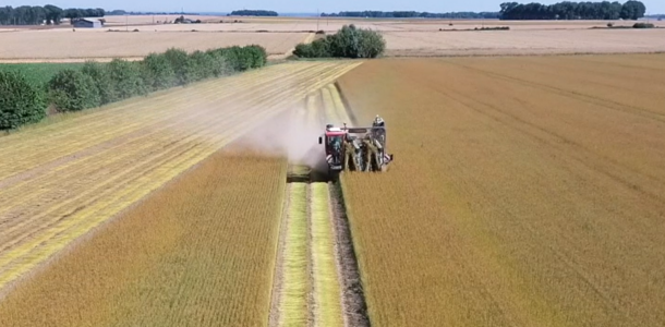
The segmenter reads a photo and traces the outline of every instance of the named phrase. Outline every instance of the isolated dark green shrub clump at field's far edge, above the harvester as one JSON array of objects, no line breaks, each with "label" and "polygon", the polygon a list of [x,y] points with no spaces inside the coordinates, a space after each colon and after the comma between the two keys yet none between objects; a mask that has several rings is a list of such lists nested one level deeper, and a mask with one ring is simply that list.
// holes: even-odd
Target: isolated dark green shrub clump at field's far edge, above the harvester
[{"label": "isolated dark green shrub clump at field's far edge, above the harvester", "polygon": [[386,41],[378,32],[344,25],[334,35],[298,45],[293,55],[300,58],[376,58],[385,50]]}]

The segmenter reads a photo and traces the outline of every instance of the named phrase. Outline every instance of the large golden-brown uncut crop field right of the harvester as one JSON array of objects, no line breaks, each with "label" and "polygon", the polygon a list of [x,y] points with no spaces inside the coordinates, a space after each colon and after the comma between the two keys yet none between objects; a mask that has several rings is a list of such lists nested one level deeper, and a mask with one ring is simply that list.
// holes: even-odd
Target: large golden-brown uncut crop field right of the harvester
[{"label": "large golden-brown uncut crop field right of the harvester", "polygon": [[342,76],[396,154],[342,177],[372,324],[665,324],[664,72],[662,55],[561,56]]}]

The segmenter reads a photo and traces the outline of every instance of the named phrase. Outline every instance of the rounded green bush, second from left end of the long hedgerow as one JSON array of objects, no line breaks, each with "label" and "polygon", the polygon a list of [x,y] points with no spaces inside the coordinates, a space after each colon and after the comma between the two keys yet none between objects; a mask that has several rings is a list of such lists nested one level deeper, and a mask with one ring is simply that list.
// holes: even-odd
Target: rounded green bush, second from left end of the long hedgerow
[{"label": "rounded green bush, second from left end of the long hedgerow", "polygon": [[93,77],[70,69],[58,72],[49,81],[48,98],[61,112],[95,108],[101,104]]}]

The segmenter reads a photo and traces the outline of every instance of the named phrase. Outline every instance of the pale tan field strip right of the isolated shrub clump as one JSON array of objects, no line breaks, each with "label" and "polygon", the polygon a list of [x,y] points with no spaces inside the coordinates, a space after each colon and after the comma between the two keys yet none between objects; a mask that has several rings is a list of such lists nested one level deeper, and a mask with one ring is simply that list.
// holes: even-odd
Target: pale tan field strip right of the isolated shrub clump
[{"label": "pale tan field strip right of the isolated shrub clump", "polygon": [[384,37],[388,57],[665,51],[665,29],[389,32]]}]

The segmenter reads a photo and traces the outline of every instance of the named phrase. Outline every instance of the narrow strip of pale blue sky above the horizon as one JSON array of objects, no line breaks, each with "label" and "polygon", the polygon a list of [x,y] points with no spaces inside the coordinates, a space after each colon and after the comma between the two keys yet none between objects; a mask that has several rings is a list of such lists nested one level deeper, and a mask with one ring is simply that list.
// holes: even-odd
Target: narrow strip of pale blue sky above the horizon
[{"label": "narrow strip of pale blue sky above the horizon", "polygon": [[[52,3],[61,8],[104,8],[106,10],[123,9],[126,11],[168,11],[179,12],[184,9],[185,12],[230,12],[238,9],[265,9],[274,10],[282,13],[314,13],[317,12],[339,12],[339,11],[362,11],[362,10],[382,10],[382,11],[427,11],[427,12],[452,12],[452,11],[498,11],[501,2],[541,2],[555,3],[555,1],[537,1],[537,0],[246,0],[246,1],[209,1],[209,0],[106,0],[106,1],[89,1],[89,0],[49,0],[50,2],[31,1],[31,0],[4,0],[1,5],[44,5]],[[563,0],[561,0],[563,1]],[[579,0],[587,1],[587,0]],[[614,1],[614,0],[609,0]],[[8,3],[9,2],[9,3]],[[625,2],[619,0],[619,2]],[[665,13],[665,0],[642,0],[646,5],[649,14]]]}]

